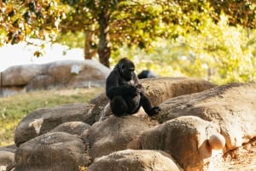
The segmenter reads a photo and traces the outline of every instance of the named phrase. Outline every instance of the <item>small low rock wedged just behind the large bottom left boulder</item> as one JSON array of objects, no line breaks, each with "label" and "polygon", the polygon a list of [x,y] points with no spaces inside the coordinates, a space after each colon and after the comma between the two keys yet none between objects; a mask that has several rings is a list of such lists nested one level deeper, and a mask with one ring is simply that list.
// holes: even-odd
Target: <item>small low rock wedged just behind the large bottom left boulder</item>
[{"label": "small low rock wedged just behind the large bottom left boulder", "polygon": [[53,132],[65,132],[68,134],[82,134],[85,130],[90,128],[90,125],[83,122],[68,122],[68,123],[61,123],[59,126],[55,127],[50,131]]}]

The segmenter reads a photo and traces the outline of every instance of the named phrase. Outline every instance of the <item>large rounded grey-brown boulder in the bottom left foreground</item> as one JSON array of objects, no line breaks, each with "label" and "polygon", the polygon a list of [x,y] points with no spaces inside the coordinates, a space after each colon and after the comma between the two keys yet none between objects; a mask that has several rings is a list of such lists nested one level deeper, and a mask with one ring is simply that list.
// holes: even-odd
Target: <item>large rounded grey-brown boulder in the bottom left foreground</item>
[{"label": "large rounded grey-brown boulder in the bottom left foreground", "polygon": [[15,171],[79,170],[90,163],[82,140],[72,134],[42,134],[20,145]]}]

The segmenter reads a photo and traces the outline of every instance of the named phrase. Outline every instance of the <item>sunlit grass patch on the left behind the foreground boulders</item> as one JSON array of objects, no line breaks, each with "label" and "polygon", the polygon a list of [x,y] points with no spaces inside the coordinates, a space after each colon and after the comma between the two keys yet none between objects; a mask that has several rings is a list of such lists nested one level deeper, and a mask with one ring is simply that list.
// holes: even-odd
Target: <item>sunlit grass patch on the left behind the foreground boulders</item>
[{"label": "sunlit grass patch on the left behind the foreground boulders", "polygon": [[0,146],[14,144],[15,128],[28,113],[70,103],[88,103],[103,88],[51,89],[0,98]]}]

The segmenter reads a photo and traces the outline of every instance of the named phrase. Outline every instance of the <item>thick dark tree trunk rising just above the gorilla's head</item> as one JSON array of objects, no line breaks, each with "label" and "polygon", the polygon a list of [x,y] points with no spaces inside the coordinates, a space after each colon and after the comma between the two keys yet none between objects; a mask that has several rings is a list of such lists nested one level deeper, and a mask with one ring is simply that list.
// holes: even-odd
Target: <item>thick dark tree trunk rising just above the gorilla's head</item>
[{"label": "thick dark tree trunk rising just above the gorilla's head", "polygon": [[100,62],[109,67],[109,58],[111,54],[111,50],[109,47],[109,14],[108,9],[102,10],[102,13],[99,14],[99,25],[100,25],[100,39],[98,43],[98,54],[100,58]]}]

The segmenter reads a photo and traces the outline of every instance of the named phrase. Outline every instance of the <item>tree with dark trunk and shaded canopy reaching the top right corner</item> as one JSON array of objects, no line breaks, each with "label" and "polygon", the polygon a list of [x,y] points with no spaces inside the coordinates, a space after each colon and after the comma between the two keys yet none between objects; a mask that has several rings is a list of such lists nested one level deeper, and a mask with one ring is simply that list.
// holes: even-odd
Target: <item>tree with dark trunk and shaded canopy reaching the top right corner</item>
[{"label": "tree with dark trunk and shaded canopy reaching the top right corner", "polygon": [[[255,27],[255,6],[251,1],[230,0],[218,3],[212,0],[89,0],[84,3],[78,0],[72,6],[76,9],[72,16],[77,16],[79,12],[78,24],[90,23],[84,25],[87,42],[85,59],[91,57],[88,48],[93,45],[105,66],[109,66],[111,51],[118,50],[124,44],[130,47],[151,48],[151,43],[157,37],[172,39],[190,31],[200,31],[206,17],[218,22],[220,11],[230,16],[230,25],[250,24],[250,27]],[[86,14],[83,14],[84,11]],[[73,21],[67,22],[68,25]],[[75,28],[80,29],[80,26]],[[91,37],[97,38],[91,40]]]}]

